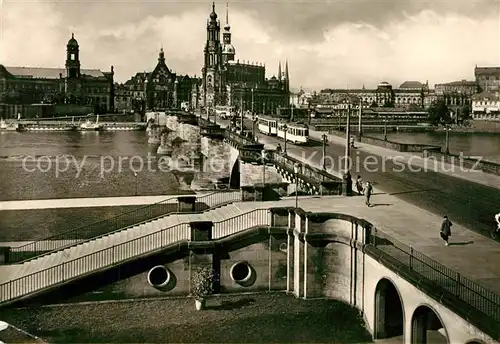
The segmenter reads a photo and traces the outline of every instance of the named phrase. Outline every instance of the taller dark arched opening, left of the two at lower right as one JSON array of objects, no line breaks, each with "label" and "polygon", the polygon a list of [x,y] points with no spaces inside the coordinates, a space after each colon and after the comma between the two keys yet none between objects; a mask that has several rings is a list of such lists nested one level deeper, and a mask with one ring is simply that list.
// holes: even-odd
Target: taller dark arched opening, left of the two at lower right
[{"label": "taller dark arched opening, left of the two at lower right", "polygon": [[391,281],[383,278],[375,288],[375,339],[393,338],[394,343],[403,343],[404,323],[399,292]]}]

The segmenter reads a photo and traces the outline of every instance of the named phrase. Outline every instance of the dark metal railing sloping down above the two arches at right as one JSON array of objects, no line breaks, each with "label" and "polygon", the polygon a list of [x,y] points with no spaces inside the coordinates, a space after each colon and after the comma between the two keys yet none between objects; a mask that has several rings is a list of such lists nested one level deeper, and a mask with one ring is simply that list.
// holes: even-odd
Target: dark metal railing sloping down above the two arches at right
[{"label": "dark metal railing sloping down above the two arches at right", "polygon": [[370,244],[390,255],[411,271],[437,284],[481,313],[500,322],[500,295],[473,282],[459,272],[374,228]]}]

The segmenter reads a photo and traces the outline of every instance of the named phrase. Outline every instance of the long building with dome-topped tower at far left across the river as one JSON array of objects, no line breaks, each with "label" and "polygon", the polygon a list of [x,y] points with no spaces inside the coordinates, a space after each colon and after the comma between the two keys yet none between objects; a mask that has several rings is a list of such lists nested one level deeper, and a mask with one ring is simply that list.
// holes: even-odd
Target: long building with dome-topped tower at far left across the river
[{"label": "long building with dome-topped tower at far left across the river", "polygon": [[113,66],[110,72],[81,68],[80,47],[72,34],[66,45],[65,68],[0,65],[1,116],[24,115],[30,106],[48,104],[65,104],[62,109],[67,111],[80,107],[111,112],[114,110],[113,76]]}]

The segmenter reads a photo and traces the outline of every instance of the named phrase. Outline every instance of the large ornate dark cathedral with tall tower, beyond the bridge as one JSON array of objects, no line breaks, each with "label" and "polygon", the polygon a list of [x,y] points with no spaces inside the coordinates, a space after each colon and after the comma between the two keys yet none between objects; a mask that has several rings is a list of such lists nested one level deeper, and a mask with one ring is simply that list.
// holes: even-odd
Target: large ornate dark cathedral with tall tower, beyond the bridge
[{"label": "large ornate dark cathedral with tall tower, beyond the bridge", "polygon": [[222,41],[221,25],[217,18],[214,2],[207,20],[207,40],[203,50],[201,105],[235,106],[255,113],[275,113],[279,108],[289,107],[288,62],[285,62],[283,72],[280,62],[277,77],[267,79],[266,67],[262,63],[235,60],[236,50],[231,43],[227,5]]}]

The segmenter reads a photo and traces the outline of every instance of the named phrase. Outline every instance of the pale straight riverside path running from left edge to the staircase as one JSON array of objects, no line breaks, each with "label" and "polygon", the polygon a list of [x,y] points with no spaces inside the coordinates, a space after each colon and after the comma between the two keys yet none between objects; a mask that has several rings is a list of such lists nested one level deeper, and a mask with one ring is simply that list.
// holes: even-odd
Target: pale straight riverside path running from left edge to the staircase
[{"label": "pale straight riverside path running from left edge to the staircase", "polygon": [[32,200],[32,201],[3,201],[0,202],[0,211],[149,205],[165,201],[167,199],[172,199],[171,203],[176,203],[178,196],[180,195],[98,197],[98,198],[58,198],[58,199],[42,199],[42,200]]}]

